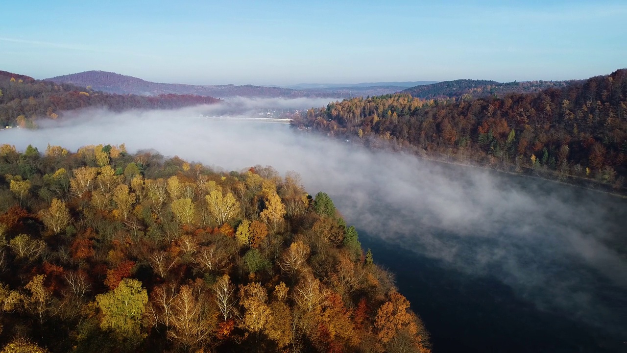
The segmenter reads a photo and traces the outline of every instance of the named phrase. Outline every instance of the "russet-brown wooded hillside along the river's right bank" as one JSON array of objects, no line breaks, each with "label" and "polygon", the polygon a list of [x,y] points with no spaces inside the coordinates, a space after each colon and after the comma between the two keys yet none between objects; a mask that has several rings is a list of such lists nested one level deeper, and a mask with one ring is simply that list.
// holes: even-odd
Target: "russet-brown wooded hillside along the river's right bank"
[{"label": "russet-brown wooded hillside along the river's right bank", "polygon": [[[427,158],[622,189],[627,175],[627,69],[561,89],[451,102],[408,94],[332,102],[293,122]],[[385,144],[389,141],[389,144]]]}]

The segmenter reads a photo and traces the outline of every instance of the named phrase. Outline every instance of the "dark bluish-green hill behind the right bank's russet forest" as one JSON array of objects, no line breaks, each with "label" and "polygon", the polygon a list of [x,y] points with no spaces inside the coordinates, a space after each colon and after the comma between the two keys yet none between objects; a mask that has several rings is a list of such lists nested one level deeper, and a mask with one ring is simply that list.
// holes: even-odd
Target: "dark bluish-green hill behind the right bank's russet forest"
[{"label": "dark bluish-green hill behind the right bank's russet forest", "polygon": [[571,81],[524,81],[500,83],[490,80],[454,80],[430,85],[418,85],[400,93],[423,99],[472,99],[488,95],[502,96],[508,93],[534,93],[549,88],[561,88],[573,84]]}]

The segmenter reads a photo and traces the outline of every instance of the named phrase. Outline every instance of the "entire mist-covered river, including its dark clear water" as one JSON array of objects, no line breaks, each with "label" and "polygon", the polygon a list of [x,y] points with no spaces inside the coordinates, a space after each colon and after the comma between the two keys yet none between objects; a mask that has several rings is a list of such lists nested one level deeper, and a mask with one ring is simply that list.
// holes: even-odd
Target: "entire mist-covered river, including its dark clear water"
[{"label": "entire mist-covered river, including its dark clear water", "polygon": [[3,131],[0,143],[125,143],[224,170],[295,170],[396,273],[435,352],[627,351],[627,200],[288,126],[186,116],[198,111],[80,112]]}]

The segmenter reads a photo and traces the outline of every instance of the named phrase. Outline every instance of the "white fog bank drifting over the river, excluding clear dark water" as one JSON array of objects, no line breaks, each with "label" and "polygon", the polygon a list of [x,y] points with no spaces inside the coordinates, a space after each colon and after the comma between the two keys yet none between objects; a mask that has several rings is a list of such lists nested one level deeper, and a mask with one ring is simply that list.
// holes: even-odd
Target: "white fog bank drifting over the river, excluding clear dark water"
[{"label": "white fog bank drifting over the river, excluding clear dark water", "polygon": [[[278,104],[325,103],[242,102],[251,104],[250,115]],[[0,143],[18,149],[33,144],[40,151],[48,143],[73,151],[85,144],[125,143],[130,152],[153,148],[225,170],[257,164],[281,173],[295,170],[308,192],[329,193],[347,222],[372,236],[469,277],[494,276],[540,310],[561,312],[616,335],[627,332],[627,259],[609,245],[618,237],[626,241],[624,202],[608,204],[576,188],[540,187],[546,183],[368,151],[287,125],[191,118],[212,109],[224,107],[83,111],[34,131],[3,131]]]}]

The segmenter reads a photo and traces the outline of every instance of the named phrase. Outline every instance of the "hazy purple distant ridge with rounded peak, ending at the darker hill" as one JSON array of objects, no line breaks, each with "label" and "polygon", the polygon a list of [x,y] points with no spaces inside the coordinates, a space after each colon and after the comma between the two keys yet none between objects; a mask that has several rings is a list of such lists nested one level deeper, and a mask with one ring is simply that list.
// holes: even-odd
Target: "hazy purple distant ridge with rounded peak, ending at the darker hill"
[{"label": "hazy purple distant ridge with rounded peak, ending at the darker hill", "polygon": [[[286,87],[265,87],[256,85],[186,85],[162,84],[150,82],[137,77],[120,75],[106,71],[86,71],[46,79],[57,84],[73,84],[82,87],[90,86],[94,90],[116,94],[160,95],[160,94],[193,94],[208,95],[217,98],[228,97],[329,97],[342,99],[359,95],[391,94],[405,89],[407,86],[357,84],[352,87],[318,87],[292,89]],[[407,83],[406,83],[407,84]],[[323,85],[324,86],[324,85]]]}]

